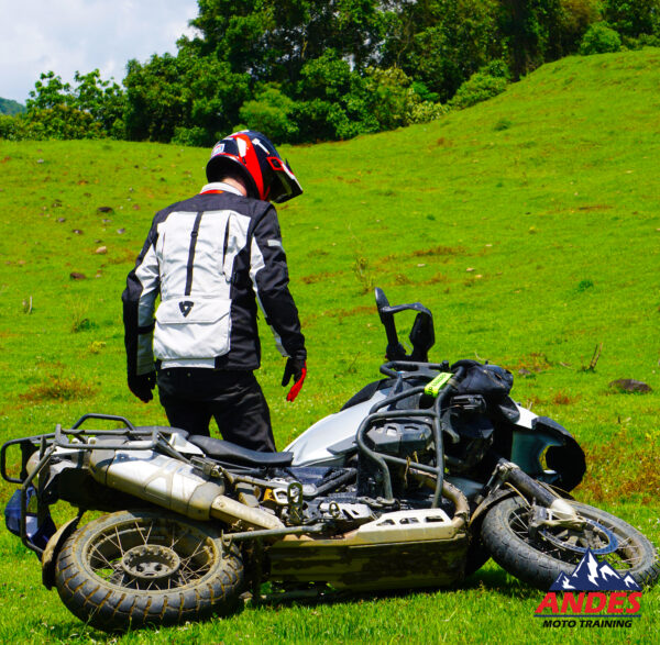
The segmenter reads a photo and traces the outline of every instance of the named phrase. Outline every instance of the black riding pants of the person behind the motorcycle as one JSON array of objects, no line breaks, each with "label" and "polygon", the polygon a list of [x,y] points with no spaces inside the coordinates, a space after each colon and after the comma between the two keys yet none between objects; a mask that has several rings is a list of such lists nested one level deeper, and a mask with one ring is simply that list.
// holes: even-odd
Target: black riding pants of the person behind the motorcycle
[{"label": "black riding pants of the person behind the motorcycle", "polygon": [[222,438],[245,448],[275,452],[271,413],[252,371],[175,367],[158,371],[158,394],[173,427]]}]

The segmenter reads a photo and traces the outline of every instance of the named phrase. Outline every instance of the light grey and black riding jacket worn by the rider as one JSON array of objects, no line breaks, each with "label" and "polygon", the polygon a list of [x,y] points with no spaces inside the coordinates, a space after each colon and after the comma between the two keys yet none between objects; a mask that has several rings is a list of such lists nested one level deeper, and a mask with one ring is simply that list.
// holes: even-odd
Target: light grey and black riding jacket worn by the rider
[{"label": "light grey and black riding jacket worn by the rider", "polygon": [[224,184],[156,213],[122,300],[129,374],[256,369],[257,303],[282,355],[307,356],[275,209]]}]

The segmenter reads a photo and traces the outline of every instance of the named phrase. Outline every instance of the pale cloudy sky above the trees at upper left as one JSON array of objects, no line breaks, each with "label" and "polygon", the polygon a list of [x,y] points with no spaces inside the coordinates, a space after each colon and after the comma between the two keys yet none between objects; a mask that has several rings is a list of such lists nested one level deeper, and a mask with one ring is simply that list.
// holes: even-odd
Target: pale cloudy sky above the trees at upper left
[{"label": "pale cloudy sky above the trees at upper left", "polygon": [[25,103],[42,71],[118,84],[131,58],[176,54],[197,0],[0,0],[0,97]]}]

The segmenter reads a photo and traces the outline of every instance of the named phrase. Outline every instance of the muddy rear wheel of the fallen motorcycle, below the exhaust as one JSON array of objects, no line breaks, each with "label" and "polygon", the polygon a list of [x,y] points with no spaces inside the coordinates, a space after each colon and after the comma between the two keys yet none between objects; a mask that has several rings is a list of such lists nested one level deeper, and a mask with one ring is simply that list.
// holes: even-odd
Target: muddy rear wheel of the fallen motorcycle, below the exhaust
[{"label": "muddy rear wheel of the fallen motorcycle, below the exhaust", "polygon": [[243,563],[213,529],[177,515],[121,511],[89,522],[64,544],[55,583],[68,610],[92,626],[125,631],[228,613]]}]

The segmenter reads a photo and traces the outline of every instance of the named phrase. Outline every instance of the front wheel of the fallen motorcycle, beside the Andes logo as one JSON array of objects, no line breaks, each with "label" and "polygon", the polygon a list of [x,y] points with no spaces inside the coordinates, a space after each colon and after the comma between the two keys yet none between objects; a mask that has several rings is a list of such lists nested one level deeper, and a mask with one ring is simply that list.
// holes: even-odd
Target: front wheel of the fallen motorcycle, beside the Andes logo
[{"label": "front wheel of the fallen motorcycle, beside the Andes logo", "polygon": [[639,531],[594,507],[570,503],[586,520],[584,530],[530,531],[528,504],[515,497],[488,511],[482,541],[502,568],[538,589],[548,590],[562,572],[570,576],[587,548],[622,577],[630,575],[640,586],[657,581],[658,554]]}]

